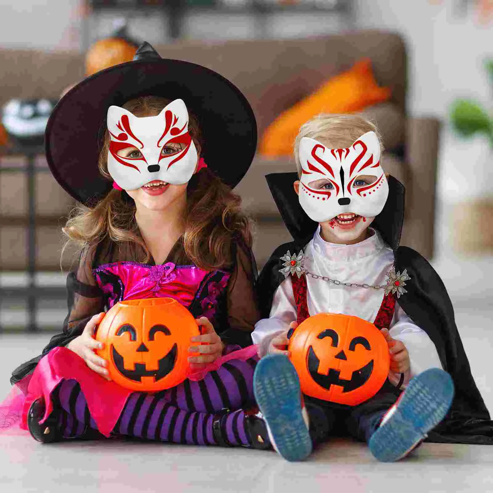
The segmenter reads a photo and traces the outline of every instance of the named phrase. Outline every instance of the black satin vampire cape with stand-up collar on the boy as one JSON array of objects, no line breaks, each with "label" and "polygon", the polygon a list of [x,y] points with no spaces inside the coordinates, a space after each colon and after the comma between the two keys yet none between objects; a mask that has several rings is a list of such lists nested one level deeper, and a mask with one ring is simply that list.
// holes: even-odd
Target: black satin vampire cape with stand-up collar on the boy
[{"label": "black satin vampire cape with stand-up collar on the boy", "polygon": [[[281,256],[287,250],[298,253],[313,238],[318,223],[301,208],[293,189],[296,173],[267,175],[267,182],[282,219],[294,241],[279,246],[265,264],[258,282],[260,309],[263,318],[269,317],[276,289],[284,280],[279,272]],[[433,341],[444,370],[453,378],[455,397],[446,419],[432,432],[428,441],[443,443],[474,443],[493,445],[493,422],[483,398],[471,375],[454,319],[454,309],[445,286],[433,267],[417,251],[399,246],[404,220],[404,186],[394,177],[388,178],[389,193],[386,205],[375,218],[372,227],[379,231],[384,242],[394,250],[395,270],[407,269],[411,278],[406,282],[407,293],[399,305]]]}]

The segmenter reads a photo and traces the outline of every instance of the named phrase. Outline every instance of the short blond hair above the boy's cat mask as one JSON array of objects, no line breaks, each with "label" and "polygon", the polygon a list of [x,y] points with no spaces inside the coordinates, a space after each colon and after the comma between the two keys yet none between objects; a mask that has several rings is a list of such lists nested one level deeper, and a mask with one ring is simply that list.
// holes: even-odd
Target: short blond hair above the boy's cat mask
[{"label": "short blond hair above the boy's cat mask", "polygon": [[358,137],[366,134],[366,132],[375,132],[377,134],[380,148],[383,151],[384,146],[377,127],[361,115],[321,113],[308,120],[300,127],[294,141],[294,159],[298,177],[301,176],[298,150],[303,137],[315,139],[330,149],[341,149],[350,147]]}]

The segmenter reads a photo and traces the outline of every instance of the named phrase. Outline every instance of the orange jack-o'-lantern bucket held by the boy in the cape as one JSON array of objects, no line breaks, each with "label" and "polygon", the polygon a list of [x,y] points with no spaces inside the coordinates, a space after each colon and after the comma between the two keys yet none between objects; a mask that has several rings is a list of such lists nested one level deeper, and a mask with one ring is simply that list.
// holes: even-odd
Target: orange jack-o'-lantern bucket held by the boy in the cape
[{"label": "orange jack-o'-lantern bucket held by the boy in the cape", "polygon": [[372,323],[349,315],[307,318],[292,333],[288,352],[303,393],[350,406],[378,392],[390,365],[383,334]]}]

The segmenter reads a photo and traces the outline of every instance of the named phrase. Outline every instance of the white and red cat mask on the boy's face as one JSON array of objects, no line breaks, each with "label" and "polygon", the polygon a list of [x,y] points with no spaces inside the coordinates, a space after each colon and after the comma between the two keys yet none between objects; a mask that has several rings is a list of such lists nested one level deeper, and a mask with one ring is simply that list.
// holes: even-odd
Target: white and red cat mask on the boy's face
[{"label": "white and red cat mask on the boy's face", "polygon": [[[384,208],[388,183],[380,165],[380,142],[374,132],[367,132],[345,149],[328,149],[314,139],[303,137],[298,157],[302,168],[299,201],[314,221],[328,221],[348,212],[374,217]],[[354,187],[359,175],[376,176],[376,180],[367,186]],[[332,189],[309,186],[321,178],[332,183]]]}]

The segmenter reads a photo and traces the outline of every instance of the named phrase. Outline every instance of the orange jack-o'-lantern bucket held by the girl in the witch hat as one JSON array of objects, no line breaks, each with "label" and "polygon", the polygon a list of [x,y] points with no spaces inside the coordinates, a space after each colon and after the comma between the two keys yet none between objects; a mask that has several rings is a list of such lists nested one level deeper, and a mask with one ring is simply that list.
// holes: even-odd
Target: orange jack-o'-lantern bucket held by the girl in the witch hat
[{"label": "orange jack-o'-lantern bucket held by the girl in the witch hat", "polygon": [[188,374],[190,338],[199,329],[190,312],[171,298],[123,301],[100,323],[98,354],[108,361],[110,378],[132,390],[175,387]]}]

